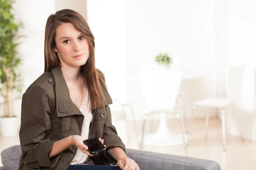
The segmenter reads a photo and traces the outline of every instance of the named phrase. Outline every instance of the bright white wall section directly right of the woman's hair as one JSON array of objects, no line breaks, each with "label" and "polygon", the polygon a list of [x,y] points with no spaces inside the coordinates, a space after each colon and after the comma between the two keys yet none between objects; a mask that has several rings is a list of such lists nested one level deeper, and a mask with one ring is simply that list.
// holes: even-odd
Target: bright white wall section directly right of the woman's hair
[{"label": "bright white wall section directly right of the woman's hair", "polygon": [[87,0],[87,21],[95,37],[96,68],[104,74],[112,99],[126,98],[124,0]]}]

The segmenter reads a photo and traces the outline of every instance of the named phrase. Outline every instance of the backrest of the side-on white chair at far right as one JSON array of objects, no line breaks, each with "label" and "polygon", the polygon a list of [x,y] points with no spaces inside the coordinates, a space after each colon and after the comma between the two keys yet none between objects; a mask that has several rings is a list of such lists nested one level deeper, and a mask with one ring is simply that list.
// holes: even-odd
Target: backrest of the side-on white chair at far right
[{"label": "backrest of the side-on white chair at far right", "polygon": [[227,99],[237,105],[241,99],[241,85],[244,78],[245,64],[229,65],[226,72]]}]

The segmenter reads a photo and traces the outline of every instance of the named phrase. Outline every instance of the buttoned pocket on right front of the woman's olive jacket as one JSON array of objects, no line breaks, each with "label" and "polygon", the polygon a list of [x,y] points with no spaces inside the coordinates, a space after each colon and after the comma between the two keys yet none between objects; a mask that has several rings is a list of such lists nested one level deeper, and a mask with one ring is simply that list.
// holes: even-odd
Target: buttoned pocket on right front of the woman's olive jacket
[{"label": "buttoned pocket on right front of the woman's olive jacket", "polygon": [[98,137],[103,136],[104,124],[107,116],[108,116],[108,113],[104,109],[99,109],[98,111],[96,111],[95,127],[96,127]]}]

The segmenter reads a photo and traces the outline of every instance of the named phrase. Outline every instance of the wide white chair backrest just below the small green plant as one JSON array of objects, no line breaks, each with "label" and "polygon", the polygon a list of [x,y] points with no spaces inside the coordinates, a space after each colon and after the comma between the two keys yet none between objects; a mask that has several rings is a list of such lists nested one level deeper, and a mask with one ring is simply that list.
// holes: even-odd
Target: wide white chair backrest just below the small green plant
[{"label": "wide white chair backrest just below the small green plant", "polygon": [[173,109],[180,89],[180,70],[142,69],[139,71],[139,80],[149,111]]}]

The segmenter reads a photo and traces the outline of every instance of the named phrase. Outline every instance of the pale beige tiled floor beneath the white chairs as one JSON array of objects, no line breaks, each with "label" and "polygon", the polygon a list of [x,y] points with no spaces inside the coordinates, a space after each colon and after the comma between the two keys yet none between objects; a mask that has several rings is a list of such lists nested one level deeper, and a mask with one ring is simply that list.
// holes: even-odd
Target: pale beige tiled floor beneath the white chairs
[{"label": "pale beige tiled floor beneath the white chairs", "polygon": [[[188,146],[189,156],[217,161],[221,164],[222,170],[256,170],[256,142],[245,140],[243,143],[239,137],[227,134],[227,151],[224,153],[222,149],[221,121],[215,118],[209,120],[207,140],[204,139],[204,121],[205,119],[195,119],[194,121],[192,140],[189,142]],[[172,119],[169,120],[168,123],[169,128],[172,129],[172,131],[179,133],[179,124],[177,120]],[[132,125],[132,122],[130,125]],[[141,127],[142,122],[138,122],[138,125]],[[150,122],[146,124],[146,132],[150,131],[150,125]],[[154,131],[157,130],[158,125],[159,121],[155,120]],[[134,129],[132,127],[129,129],[131,138],[126,144],[126,147],[138,149],[139,145],[135,139]],[[13,138],[1,137],[0,152],[6,147],[15,144],[19,144],[18,136]],[[143,150],[185,156],[184,149],[181,145],[172,147],[144,146]]]}]

